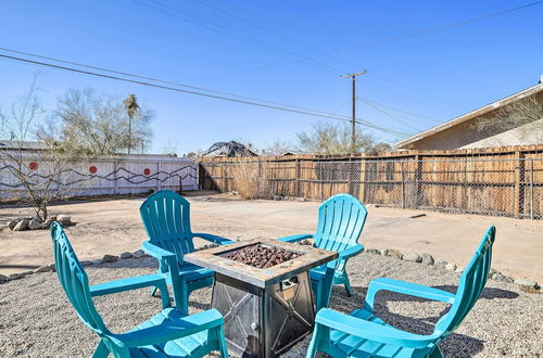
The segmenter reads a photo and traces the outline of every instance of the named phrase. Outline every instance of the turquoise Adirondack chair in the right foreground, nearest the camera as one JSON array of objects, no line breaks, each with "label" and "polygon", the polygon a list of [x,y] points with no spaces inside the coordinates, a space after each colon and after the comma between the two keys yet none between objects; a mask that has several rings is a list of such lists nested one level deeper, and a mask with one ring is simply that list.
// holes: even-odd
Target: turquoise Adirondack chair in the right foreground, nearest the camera
[{"label": "turquoise Adirondack chair in the right foreground, nearest the camera", "polygon": [[[343,315],[321,309],[316,317],[307,357],[325,351],[332,357],[443,357],[438,343],[464,320],[487,283],[495,228],[491,227],[460,277],[456,294],[416,283],[376,279],[369,283],[364,307]],[[397,330],[374,316],[376,294],[392,291],[451,304],[433,333],[420,335]]]}]

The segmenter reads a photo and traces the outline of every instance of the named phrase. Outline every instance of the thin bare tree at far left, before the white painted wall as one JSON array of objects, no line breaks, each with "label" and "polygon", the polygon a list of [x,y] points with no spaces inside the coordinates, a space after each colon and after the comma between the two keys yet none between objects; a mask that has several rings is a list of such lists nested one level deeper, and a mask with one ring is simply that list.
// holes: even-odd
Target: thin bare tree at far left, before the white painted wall
[{"label": "thin bare tree at far left, before the white painted wall", "polygon": [[45,114],[36,95],[36,77],[26,94],[8,111],[0,111],[1,136],[10,138],[0,151],[2,186],[13,199],[33,206],[36,216],[46,220],[49,203],[64,189],[63,172],[73,153],[51,137],[37,137],[35,130]]}]

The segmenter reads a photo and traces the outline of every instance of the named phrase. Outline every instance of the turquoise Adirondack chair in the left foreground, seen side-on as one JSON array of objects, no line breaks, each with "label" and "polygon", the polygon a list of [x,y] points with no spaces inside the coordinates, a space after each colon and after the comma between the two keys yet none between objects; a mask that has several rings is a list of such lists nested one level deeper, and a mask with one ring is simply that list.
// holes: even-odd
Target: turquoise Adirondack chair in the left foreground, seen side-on
[{"label": "turquoise Adirondack chair in the left foreground, seen side-on", "polygon": [[[93,357],[228,357],[224,319],[216,309],[186,316],[168,307],[126,333],[112,333],[98,314],[87,273],[58,222],[51,226],[56,274],[77,316],[100,336]],[[167,292],[165,283],[161,286]]]}]

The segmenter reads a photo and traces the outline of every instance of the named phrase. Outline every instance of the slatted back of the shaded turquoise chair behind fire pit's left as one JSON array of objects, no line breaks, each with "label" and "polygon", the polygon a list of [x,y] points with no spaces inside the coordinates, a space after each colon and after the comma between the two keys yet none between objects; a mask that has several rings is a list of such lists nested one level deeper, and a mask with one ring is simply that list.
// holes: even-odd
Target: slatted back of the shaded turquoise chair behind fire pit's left
[{"label": "slatted back of the shaded turquoise chair behind fire pit's left", "polygon": [[162,190],[150,195],[140,208],[149,241],[175,253],[179,265],[194,251],[190,230],[190,203],[181,195]]}]

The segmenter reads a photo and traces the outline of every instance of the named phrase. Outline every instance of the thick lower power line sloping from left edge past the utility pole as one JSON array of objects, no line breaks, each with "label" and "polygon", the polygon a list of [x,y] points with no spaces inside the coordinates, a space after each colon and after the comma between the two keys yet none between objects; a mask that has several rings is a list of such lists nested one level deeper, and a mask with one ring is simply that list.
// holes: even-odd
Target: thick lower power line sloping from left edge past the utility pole
[{"label": "thick lower power line sloping from left edge past the utility pole", "polygon": [[[141,80],[135,80],[135,79],[129,79],[129,78],[123,78],[123,77],[117,77],[117,76],[112,76],[112,75],[99,74],[99,73],[94,73],[94,72],[90,72],[90,71],[78,69],[78,68],[73,68],[73,67],[67,67],[67,66],[60,66],[60,65],[55,65],[55,64],[51,64],[51,63],[46,63],[46,62],[40,62],[40,61],[34,61],[34,60],[28,60],[28,59],[23,59],[23,57],[7,55],[7,54],[2,54],[2,53],[0,53],[0,57],[4,57],[4,59],[8,59],[8,60],[13,60],[13,61],[17,61],[17,62],[29,63],[29,64],[39,65],[39,66],[46,66],[46,67],[52,67],[52,68],[56,68],[56,69],[68,71],[68,72],[84,74],[84,75],[89,75],[89,76],[94,76],[94,77],[102,77],[102,78],[108,78],[108,79],[113,79],[113,80],[118,80],[118,81],[124,81],[124,82],[136,84],[136,85],[140,85],[140,86],[146,86],[146,87],[154,87],[154,88],[171,90],[171,91],[175,91],[175,92],[181,92],[181,93],[194,94],[194,95],[200,95],[200,97],[206,97],[206,98],[212,98],[212,99],[216,99],[216,100],[229,101],[229,102],[241,103],[241,104],[249,104],[249,105],[254,105],[254,106],[260,106],[260,107],[265,107],[265,108],[270,108],[270,110],[278,110],[278,111],[283,111],[283,112],[298,113],[298,114],[303,114],[303,115],[308,115],[308,116],[314,116],[314,117],[320,117],[320,118],[330,118],[330,119],[350,122],[350,119],[348,117],[326,115],[326,114],[319,114],[319,113],[307,112],[307,111],[298,111],[298,110],[292,110],[292,108],[276,106],[276,105],[268,105],[268,104],[256,103],[256,102],[251,102],[251,101],[231,99],[231,98],[222,97],[222,95],[202,93],[202,92],[197,92],[197,91],[191,91],[191,90],[184,90],[184,89],[179,89],[179,88],[175,88],[175,87],[156,85],[156,84],[146,82],[146,81],[141,81]],[[389,132],[389,133],[399,135],[399,136],[409,136],[411,135],[408,132],[405,132],[405,131],[399,130],[399,129],[383,128],[383,127],[380,127],[380,126],[375,125],[372,123],[368,123],[366,120],[358,120],[357,123],[358,124],[364,124],[367,127],[370,127],[372,129],[380,130],[380,131],[383,131],[383,132]]]}]

